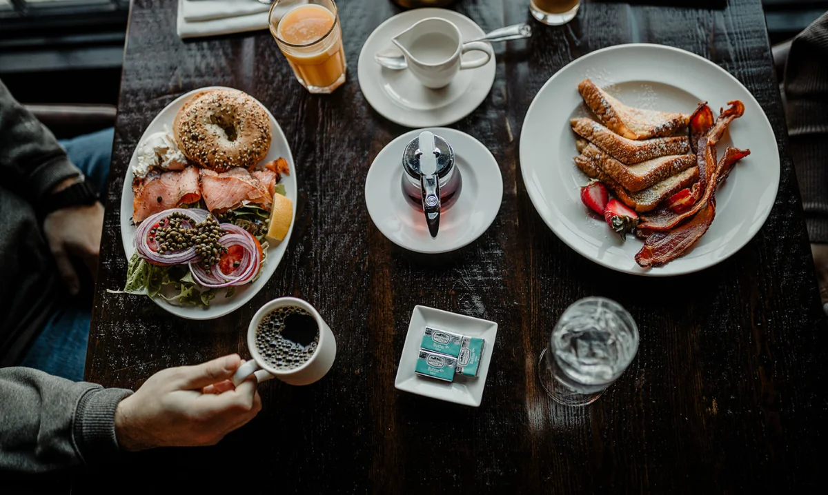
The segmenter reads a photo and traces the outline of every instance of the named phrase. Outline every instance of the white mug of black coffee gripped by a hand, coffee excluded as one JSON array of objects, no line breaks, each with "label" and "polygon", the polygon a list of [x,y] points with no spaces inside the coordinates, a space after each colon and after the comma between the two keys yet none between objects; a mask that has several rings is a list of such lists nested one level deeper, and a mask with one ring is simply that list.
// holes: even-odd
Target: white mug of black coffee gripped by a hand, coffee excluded
[{"label": "white mug of black coffee gripped by a hand, coffee excluded", "polygon": [[[258,352],[258,348],[256,347],[256,329],[258,329],[258,325],[272,310],[277,310],[285,306],[296,306],[306,310],[316,320],[316,325],[319,327],[319,344],[316,344],[316,350],[313,355],[305,363],[302,363],[301,366],[288,370],[278,370],[272,368]],[[322,320],[322,317],[312,305],[296,297],[280,297],[274,299],[256,311],[256,315],[253,316],[253,320],[250,320],[250,326],[248,326],[248,349],[253,359],[244,363],[236,370],[236,373],[233,375],[233,385],[238,385],[243,382],[251,374],[255,374],[259,382],[264,382],[271,378],[278,378],[282,382],[290,383],[291,385],[308,385],[324,377],[325,373],[334,365],[334,358],[336,358],[336,340],[328,324],[325,323],[325,320]]]}]

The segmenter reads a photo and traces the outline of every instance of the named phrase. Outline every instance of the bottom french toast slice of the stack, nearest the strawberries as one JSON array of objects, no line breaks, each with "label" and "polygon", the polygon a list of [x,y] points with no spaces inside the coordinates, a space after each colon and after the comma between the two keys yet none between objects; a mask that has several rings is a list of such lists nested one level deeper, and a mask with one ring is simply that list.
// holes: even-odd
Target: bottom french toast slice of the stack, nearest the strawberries
[{"label": "bottom french toast slice of the stack, nearest the strawberries", "polygon": [[638,213],[645,213],[656,209],[664,199],[676,194],[678,191],[699,180],[699,167],[691,166],[672,177],[668,177],[647,189],[630,192],[623,188],[612,177],[606,174],[598,163],[592,158],[584,155],[575,156],[575,165],[592,179],[600,180],[609,190],[613,191],[615,197],[621,200]]}]

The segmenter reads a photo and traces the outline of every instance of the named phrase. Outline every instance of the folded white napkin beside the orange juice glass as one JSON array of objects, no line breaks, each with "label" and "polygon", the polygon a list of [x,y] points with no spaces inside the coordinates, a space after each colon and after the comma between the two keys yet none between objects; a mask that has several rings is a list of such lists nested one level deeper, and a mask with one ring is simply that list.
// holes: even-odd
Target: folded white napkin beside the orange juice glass
[{"label": "folded white napkin beside the orange juice glass", "polygon": [[195,38],[267,29],[269,10],[256,0],[178,0],[176,31]]}]

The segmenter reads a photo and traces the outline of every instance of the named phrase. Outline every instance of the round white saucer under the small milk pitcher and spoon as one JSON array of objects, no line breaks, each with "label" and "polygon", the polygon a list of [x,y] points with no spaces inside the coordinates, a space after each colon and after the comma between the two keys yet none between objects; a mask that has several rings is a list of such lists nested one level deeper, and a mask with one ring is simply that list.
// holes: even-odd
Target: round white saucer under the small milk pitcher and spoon
[{"label": "round white saucer under the small milk pitcher and spoon", "polygon": [[[442,89],[428,89],[410,70],[386,69],[373,60],[373,55],[378,51],[399,52],[391,38],[428,17],[454,22],[464,41],[486,34],[469,17],[444,8],[416,8],[402,12],[373,30],[359,52],[359,88],[377,113],[401,126],[436,127],[455,123],[483,103],[494,83],[494,57],[478,69],[460,70],[455,79]],[[463,60],[482,56],[469,54]]]}]

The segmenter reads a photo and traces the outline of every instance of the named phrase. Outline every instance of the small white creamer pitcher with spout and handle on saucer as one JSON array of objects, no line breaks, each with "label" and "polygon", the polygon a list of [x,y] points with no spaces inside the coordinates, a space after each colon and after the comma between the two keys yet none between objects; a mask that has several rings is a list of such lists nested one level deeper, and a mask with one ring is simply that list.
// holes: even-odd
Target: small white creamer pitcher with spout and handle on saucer
[{"label": "small white creamer pitcher with spout and handle on saucer", "polygon": [[[460,29],[453,22],[429,17],[416,22],[391,40],[406,57],[408,69],[431,89],[440,89],[451,82],[460,70],[477,69],[489,63],[494,53],[483,41],[464,43]],[[481,51],[485,58],[463,61],[469,51]]]}]

